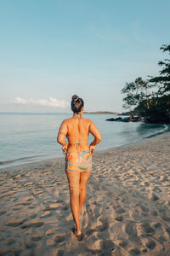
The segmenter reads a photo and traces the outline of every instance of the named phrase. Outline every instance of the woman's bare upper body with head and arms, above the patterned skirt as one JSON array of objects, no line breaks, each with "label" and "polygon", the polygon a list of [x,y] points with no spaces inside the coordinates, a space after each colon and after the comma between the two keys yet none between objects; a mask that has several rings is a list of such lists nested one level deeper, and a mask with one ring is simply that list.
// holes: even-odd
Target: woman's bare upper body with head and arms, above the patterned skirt
[{"label": "woman's bare upper body with head and arms, above the patterned skirt", "polygon": [[[82,118],[83,101],[78,96],[72,96],[71,110],[73,117],[63,121],[59,128],[57,141],[63,145],[64,154],[65,151],[70,154],[86,150],[90,150],[93,154],[94,145],[97,145],[102,139],[101,134],[92,120]],[[89,146],[88,133],[94,136],[94,141]],[[65,142],[65,137],[67,137],[68,143]]]}]

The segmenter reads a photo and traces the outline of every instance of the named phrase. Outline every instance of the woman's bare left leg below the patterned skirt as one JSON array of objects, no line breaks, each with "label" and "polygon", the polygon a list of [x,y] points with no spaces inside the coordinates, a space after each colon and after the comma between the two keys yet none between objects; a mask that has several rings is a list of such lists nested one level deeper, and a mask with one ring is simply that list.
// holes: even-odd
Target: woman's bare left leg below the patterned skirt
[{"label": "woman's bare left leg below the patterned skirt", "polygon": [[75,222],[77,235],[81,234],[81,227],[79,222],[79,181],[80,172],[66,171],[69,185],[70,185],[70,203],[71,212]]}]

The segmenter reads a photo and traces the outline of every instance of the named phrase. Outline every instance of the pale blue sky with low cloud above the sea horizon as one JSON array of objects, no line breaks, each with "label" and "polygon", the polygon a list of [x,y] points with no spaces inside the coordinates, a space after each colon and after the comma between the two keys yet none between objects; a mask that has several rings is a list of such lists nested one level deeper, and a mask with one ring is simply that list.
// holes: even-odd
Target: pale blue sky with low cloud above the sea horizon
[{"label": "pale blue sky with low cloud above the sea horizon", "polygon": [[0,0],[0,112],[122,112],[121,90],[156,76],[169,0]]}]

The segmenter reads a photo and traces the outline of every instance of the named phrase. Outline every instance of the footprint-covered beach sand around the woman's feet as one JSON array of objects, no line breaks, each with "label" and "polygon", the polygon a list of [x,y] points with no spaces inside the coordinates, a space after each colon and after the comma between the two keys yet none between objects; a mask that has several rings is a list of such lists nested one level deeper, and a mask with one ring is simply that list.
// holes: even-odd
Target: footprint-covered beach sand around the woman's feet
[{"label": "footprint-covered beach sand around the woman's feet", "polygon": [[1,172],[0,255],[170,255],[170,132],[93,160],[83,241],[64,160]]}]

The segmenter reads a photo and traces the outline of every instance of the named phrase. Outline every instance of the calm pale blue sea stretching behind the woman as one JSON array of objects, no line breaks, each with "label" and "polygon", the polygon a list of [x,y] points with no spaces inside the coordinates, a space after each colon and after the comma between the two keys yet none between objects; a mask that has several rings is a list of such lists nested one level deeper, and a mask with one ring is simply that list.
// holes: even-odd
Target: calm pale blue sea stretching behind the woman
[{"label": "calm pale blue sea stretching behind the woman", "polygon": [[[61,157],[61,146],[56,142],[59,125],[72,113],[0,113],[0,169],[20,163]],[[168,129],[167,125],[142,122],[109,122],[111,114],[84,114],[98,126],[103,140],[96,151],[134,143]],[[89,137],[89,142],[93,137]]]}]

